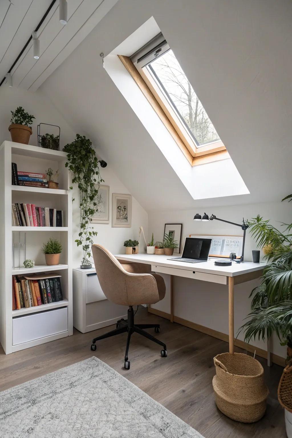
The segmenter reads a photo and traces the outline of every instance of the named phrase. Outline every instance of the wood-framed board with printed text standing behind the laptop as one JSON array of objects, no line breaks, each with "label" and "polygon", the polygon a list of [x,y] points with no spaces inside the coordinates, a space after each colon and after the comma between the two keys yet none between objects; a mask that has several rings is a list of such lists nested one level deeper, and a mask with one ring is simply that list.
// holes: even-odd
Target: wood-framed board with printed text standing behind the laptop
[{"label": "wood-framed board with printed text standing behind the laptop", "polygon": [[190,237],[212,238],[209,257],[229,258],[231,252],[240,258],[243,252],[243,236],[213,236],[190,234]]}]

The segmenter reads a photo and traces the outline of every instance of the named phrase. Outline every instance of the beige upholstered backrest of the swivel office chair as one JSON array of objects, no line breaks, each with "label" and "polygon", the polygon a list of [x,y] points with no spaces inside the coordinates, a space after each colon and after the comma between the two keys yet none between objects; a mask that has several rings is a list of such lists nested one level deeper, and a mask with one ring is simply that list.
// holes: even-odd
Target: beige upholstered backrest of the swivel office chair
[{"label": "beige upholstered backrest of the swivel office chair", "polygon": [[124,306],[159,301],[154,276],[127,272],[113,254],[101,245],[92,245],[91,251],[100,286],[108,300]]}]

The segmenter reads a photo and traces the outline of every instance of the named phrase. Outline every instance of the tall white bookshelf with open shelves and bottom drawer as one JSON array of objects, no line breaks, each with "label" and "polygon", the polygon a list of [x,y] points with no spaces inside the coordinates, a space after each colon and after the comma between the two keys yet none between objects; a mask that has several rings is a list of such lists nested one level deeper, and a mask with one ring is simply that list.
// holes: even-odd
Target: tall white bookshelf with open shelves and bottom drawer
[{"label": "tall white bookshelf with open shelves and bottom drawer", "polygon": [[[65,152],[12,141],[4,141],[0,146],[0,343],[6,354],[70,336],[73,333],[72,195],[69,190],[69,173],[65,168],[66,158]],[[48,167],[53,170],[59,169],[60,188],[55,190],[11,185],[11,162],[15,162],[18,170],[22,171],[45,173]],[[15,202],[63,210],[64,226],[12,226],[11,204]],[[35,260],[34,268],[12,267],[14,231],[26,233],[26,258]],[[49,237],[59,239],[63,246],[60,264],[56,266],[45,265],[45,257],[41,253],[42,243]],[[61,275],[62,301],[12,310],[13,275],[55,271]],[[19,331],[22,321],[23,326],[28,328],[32,335],[29,339],[26,337],[25,342],[18,342],[17,330]],[[46,327],[48,327],[47,332]],[[42,333],[41,337],[39,332]]]}]

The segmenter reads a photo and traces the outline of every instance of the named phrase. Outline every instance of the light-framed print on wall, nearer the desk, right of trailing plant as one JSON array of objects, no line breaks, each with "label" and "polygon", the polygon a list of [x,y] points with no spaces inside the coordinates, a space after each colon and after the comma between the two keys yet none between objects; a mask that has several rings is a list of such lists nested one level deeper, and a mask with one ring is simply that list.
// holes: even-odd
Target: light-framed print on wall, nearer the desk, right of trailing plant
[{"label": "light-framed print on wall, nearer the desk, right of trailing plant", "polygon": [[130,228],[132,222],[132,195],[113,193],[112,226]]}]

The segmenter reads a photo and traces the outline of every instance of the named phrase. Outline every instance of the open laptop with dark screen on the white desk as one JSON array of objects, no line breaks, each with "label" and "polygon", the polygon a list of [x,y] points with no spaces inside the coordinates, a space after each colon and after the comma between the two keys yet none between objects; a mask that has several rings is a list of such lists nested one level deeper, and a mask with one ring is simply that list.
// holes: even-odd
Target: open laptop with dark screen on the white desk
[{"label": "open laptop with dark screen on the white desk", "polygon": [[199,237],[186,237],[182,257],[169,258],[168,260],[185,261],[187,263],[200,263],[207,261],[212,239]]}]

